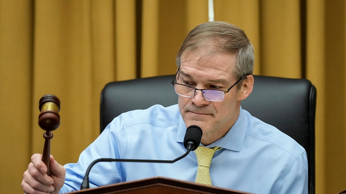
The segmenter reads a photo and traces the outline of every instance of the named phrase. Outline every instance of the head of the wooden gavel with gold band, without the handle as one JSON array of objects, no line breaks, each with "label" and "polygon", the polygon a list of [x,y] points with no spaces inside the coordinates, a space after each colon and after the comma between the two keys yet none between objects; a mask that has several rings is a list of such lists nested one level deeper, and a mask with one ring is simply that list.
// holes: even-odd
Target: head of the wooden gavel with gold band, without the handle
[{"label": "head of the wooden gavel with gold band, without the handle", "polygon": [[38,125],[47,131],[54,130],[60,125],[60,100],[52,95],[44,95],[39,101],[41,111],[38,116]]}]

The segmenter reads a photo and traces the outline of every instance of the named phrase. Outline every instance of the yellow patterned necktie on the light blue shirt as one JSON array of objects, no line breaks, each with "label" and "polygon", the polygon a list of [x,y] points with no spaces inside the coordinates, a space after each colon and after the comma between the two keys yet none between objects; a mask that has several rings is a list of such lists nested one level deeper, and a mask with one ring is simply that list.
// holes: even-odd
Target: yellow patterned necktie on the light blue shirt
[{"label": "yellow patterned necktie on the light blue shirt", "polygon": [[198,146],[198,148],[195,149],[194,152],[197,156],[198,163],[196,183],[211,185],[209,167],[214,153],[219,149],[221,149],[221,147],[208,148],[204,146]]}]

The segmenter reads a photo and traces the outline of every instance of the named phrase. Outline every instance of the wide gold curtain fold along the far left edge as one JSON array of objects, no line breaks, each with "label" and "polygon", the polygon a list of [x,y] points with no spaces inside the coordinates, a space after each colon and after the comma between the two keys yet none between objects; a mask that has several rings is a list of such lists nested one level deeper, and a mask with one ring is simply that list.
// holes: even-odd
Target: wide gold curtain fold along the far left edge
[{"label": "wide gold curtain fold along the far left edge", "polygon": [[19,193],[30,161],[33,3],[0,1],[0,193]]}]

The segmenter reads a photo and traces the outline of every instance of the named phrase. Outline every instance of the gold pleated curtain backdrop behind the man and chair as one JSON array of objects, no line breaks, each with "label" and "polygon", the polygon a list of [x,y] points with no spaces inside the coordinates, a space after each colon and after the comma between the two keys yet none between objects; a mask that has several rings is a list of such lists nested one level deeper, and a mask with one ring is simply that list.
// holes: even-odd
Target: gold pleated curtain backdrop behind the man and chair
[{"label": "gold pleated curtain backdrop behind the man and chair", "polygon": [[[252,41],[256,75],[317,87],[316,193],[345,189],[346,2],[214,0],[214,8],[215,20]],[[51,154],[76,162],[99,135],[103,86],[174,74],[186,34],[207,21],[207,0],[0,0],[0,193],[21,193],[30,156],[43,151],[40,97],[61,100]]]}]

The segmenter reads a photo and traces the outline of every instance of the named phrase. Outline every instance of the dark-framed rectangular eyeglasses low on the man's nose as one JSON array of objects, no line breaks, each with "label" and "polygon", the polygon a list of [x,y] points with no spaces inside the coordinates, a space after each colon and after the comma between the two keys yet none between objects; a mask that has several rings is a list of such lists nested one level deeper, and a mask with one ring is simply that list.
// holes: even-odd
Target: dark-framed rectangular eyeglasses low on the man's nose
[{"label": "dark-framed rectangular eyeglasses low on the man's nose", "polygon": [[[178,69],[179,71],[179,69]],[[217,89],[197,89],[188,85],[179,84],[176,80],[176,75],[178,74],[178,71],[175,74],[175,78],[172,81],[172,85],[174,86],[175,93],[184,96],[192,98],[196,94],[196,90],[200,90],[203,94],[204,99],[209,101],[222,101],[225,99],[225,94],[229,92],[230,89],[232,89],[240,80],[244,79],[248,75],[243,76],[242,78],[238,79],[236,83],[234,83],[231,87],[227,89],[227,91],[224,90],[217,90]]]}]

